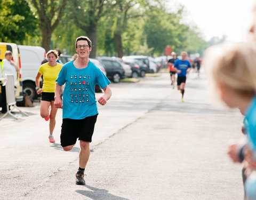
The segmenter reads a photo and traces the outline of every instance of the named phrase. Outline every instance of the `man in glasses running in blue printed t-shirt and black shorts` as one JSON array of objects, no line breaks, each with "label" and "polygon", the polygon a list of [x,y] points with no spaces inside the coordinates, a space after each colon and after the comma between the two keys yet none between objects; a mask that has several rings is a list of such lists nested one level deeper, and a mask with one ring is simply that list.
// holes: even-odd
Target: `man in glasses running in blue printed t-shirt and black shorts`
[{"label": "man in glasses running in blue printed t-shirt and black shorts", "polygon": [[76,173],[76,184],[85,185],[84,170],[90,156],[90,142],[98,110],[95,100],[94,86],[96,84],[104,91],[98,102],[105,105],[111,97],[110,81],[90,60],[92,42],[88,37],[76,38],[77,59],[67,62],[61,69],[55,86],[55,102],[57,108],[62,108],[60,97],[62,85],[63,114],[60,141],[63,150],[71,150],[78,138],[80,140],[79,168]]}]

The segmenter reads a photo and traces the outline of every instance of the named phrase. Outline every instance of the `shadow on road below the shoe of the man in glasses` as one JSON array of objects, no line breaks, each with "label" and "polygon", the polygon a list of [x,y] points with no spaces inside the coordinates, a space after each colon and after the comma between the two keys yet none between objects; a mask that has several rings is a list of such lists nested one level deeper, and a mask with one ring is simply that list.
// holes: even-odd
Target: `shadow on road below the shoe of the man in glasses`
[{"label": "shadow on road below the shoe of the man in glasses", "polygon": [[102,200],[102,199],[108,199],[108,200],[129,200],[127,198],[123,198],[123,197],[119,197],[113,194],[108,193],[108,190],[106,189],[99,189],[99,188],[94,188],[91,186],[87,186],[85,185],[85,187],[87,187],[88,189],[92,190],[92,191],[88,191],[88,190],[76,190],[77,193],[87,196],[93,200]]}]

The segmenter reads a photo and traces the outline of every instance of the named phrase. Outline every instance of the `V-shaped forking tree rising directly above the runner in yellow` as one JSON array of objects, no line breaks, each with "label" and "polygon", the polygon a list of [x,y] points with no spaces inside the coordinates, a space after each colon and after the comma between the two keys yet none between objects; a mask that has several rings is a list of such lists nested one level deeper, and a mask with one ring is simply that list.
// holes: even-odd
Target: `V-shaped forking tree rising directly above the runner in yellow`
[{"label": "V-shaped forking tree rising directly above the runner in yellow", "polygon": [[50,50],[53,30],[58,26],[68,0],[28,0],[35,8],[42,34],[42,47]]}]

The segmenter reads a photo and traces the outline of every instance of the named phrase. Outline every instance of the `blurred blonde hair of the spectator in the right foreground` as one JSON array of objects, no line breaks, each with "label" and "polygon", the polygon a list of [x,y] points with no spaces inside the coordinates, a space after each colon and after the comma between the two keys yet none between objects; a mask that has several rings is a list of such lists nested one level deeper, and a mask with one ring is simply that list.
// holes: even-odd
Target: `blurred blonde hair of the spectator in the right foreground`
[{"label": "blurred blonde hair of the spectator in the right foreground", "polygon": [[256,89],[256,50],[247,43],[225,42],[205,51],[204,67],[212,81],[242,94]]}]

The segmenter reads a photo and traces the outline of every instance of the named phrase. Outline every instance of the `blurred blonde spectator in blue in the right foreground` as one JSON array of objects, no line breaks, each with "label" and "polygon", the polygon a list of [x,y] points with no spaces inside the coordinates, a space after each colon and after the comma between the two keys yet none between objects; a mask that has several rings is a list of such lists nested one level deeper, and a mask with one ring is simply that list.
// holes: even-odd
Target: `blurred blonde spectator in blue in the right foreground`
[{"label": "blurred blonde spectator in blue in the right foreground", "polygon": [[246,43],[223,43],[206,50],[204,65],[220,98],[245,116],[247,140],[229,146],[229,156],[244,165],[245,199],[256,199],[256,50]]}]

